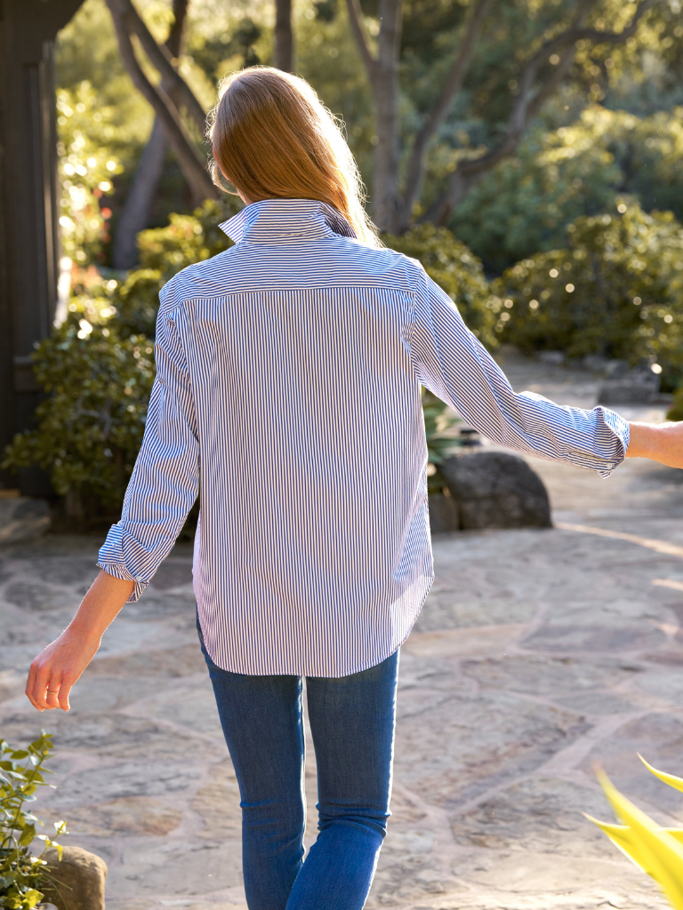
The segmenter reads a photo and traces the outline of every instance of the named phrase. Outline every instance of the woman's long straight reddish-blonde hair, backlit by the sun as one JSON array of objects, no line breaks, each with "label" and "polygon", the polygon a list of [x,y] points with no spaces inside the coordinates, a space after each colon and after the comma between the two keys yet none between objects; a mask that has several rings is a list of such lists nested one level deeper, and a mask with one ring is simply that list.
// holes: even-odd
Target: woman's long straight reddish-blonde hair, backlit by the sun
[{"label": "woman's long straight reddish-blonde hair, backlit by the sun", "polygon": [[299,76],[270,66],[226,76],[209,115],[209,137],[211,172],[221,189],[222,175],[250,202],[320,199],[342,213],[359,239],[382,246],[340,124]]}]

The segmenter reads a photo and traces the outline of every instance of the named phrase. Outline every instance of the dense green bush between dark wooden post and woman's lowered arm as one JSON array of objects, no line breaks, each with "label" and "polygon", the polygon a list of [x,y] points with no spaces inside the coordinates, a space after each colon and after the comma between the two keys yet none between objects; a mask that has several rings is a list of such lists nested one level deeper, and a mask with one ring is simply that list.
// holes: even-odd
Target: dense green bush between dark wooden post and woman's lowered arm
[{"label": "dense green bush between dark wooden post and woman's lowered arm", "polygon": [[194,215],[171,216],[168,227],[139,235],[144,268],[127,280],[75,270],[66,321],[34,352],[34,373],[47,397],[36,430],[18,433],[3,467],[37,464],[66,497],[68,518],[104,520],[120,512],[142,443],[154,381],[158,292],[193,262],[232,241],[219,223],[238,207],[208,201]]}]

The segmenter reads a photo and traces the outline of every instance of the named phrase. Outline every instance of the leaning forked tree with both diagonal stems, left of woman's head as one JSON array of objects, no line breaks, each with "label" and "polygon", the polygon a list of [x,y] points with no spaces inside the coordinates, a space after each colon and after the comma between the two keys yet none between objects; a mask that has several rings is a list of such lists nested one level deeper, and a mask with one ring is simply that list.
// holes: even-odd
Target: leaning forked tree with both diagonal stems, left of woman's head
[{"label": "leaning forked tree with both diagonal stems, left of woman's head", "polygon": [[[196,143],[182,116],[185,111],[190,123],[200,137],[206,128],[206,112],[193,95],[185,80],[173,66],[170,51],[166,45],[158,45],[147,25],[138,14],[132,0],[106,0],[117,34],[121,59],[133,84],[154,108],[163,126],[168,145],[178,158],[178,164],[188,180],[193,201],[199,205],[204,199],[218,198],[218,189],[213,185]],[[161,75],[161,83],[154,86],[138,63],[132,44],[136,35],[149,62]]]}]

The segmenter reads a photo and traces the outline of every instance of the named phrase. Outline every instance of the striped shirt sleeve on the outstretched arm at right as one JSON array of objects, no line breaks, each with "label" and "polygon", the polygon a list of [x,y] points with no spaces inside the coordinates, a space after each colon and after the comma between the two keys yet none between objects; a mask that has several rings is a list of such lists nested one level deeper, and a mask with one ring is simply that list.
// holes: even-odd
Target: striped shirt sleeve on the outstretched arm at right
[{"label": "striped shirt sleeve on the outstretched arm at right", "polygon": [[606,408],[566,408],[535,392],[515,393],[453,300],[420,268],[409,339],[420,382],[498,445],[608,477],[626,458],[627,421]]}]

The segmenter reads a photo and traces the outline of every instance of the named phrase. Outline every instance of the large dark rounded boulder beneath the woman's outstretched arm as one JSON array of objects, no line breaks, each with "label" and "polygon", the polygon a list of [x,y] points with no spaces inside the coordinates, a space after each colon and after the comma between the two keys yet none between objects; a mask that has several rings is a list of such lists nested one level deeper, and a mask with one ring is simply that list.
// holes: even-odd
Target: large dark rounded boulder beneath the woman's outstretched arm
[{"label": "large dark rounded boulder beneath the woman's outstretched arm", "polygon": [[439,470],[457,504],[462,529],[552,527],[543,480],[516,455],[460,455],[445,459]]}]

